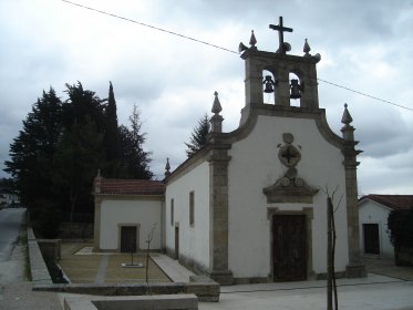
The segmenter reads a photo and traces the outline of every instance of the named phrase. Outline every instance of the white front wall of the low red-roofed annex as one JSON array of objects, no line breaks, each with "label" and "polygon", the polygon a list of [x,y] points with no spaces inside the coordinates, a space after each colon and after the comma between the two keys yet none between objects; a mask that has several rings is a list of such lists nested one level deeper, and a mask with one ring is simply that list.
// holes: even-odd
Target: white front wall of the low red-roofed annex
[{"label": "white front wall of the low red-roofed annex", "polygon": [[137,225],[140,248],[145,249],[147,235],[154,224],[152,249],[161,249],[162,235],[162,200],[161,198],[138,198],[138,199],[103,199],[101,205],[101,250],[118,250],[120,242],[120,226]]}]

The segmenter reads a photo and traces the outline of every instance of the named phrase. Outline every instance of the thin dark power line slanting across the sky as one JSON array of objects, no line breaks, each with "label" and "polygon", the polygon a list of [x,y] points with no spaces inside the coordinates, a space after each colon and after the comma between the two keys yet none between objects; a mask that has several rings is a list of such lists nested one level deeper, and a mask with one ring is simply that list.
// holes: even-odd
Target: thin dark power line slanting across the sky
[{"label": "thin dark power line slanting across the sky", "polygon": [[[82,9],[91,10],[91,11],[94,11],[94,12],[97,12],[97,13],[101,13],[101,14],[105,14],[105,16],[109,16],[109,17],[112,17],[112,18],[116,18],[116,19],[121,19],[121,20],[128,21],[128,22],[132,22],[132,23],[136,23],[136,24],[143,25],[143,27],[147,27],[147,28],[151,28],[151,29],[154,29],[154,30],[157,30],[157,31],[162,31],[162,32],[165,32],[165,33],[168,33],[168,34],[173,34],[173,35],[186,39],[186,40],[197,42],[197,43],[202,43],[202,44],[205,44],[205,45],[208,45],[208,46],[211,46],[211,48],[215,48],[215,49],[219,49],[219,50],[223,50],[223,51],[226,51],[226,52],[230,52],[230,53],[234,53],[234,54],[239,54],[239,52],[233,51],[230,49],[226,49],[226,48],[223,48],[223,46],[219,46],[219,45],[216,45],[216,44],[211,44],[211,43],[203,41],[203,40],[198,40],[198,39],[195,39],[195,38],[192,38],[192,37],[188,37],[188,35],[180,34],[178,32],[162,29],[162,28],[148,24],[148,23],[144,23],[144,22],[140,22],[140,21],[136,21],[136,20],[133,20],[133,19],[124,18],[124,17],[121,17],[121,16],[117,16],[117,14],[114,14],[114,13],[105,12],[105,11],[94,9],[94,8],[91,8],[91,7],[86,7],[86,6],[83,6],[83,4],[80,4],[80,3],[75,3],[75,2],[72,2],[72,1],[69,1],[69,0],[61,0],[61,1],[66,2],[66,3],[72,4],[72,6],[75,6],[75,7],[80,7]],[[396,104],[394,102],[386,101],[386,100],[383,100],[383,99],[380,99],[380,97],[376,97],[376,96],[373,96],[373,95],[369,95],[366,93],[363,93],[363,92],[360,92],[360,91],[357,91],[357,90],[353,90],[353,89],[350,89],[350,87],[345,87],[345,86],[342,86],[342,85],[322,80],[320,78],[318,78],[317,80],[320,81],[320,82],[330,84],[332,86],[340,87],[340,89],[347,90],[349,92],[353,92],[353,93],[357,93],[359,95],[366,96],[366,97],[370,97],[370,99],[373,99],[373,100],[376,100],[376,101],[381,101],[381,102],[384,102],[384,103],[388,103],[388,104],[391,104],[391,105],[394,105],[394,106],[405,108],[405,110],[409,110],[409,111],[413,112],[412,107],[404,106],[404,105],[401,105],[401,104]]]}]

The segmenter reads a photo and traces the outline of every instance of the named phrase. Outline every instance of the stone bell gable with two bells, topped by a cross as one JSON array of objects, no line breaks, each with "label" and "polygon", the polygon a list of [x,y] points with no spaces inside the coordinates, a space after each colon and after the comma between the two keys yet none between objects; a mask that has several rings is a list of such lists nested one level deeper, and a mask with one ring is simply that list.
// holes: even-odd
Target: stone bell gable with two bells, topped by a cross
[{"label": "stone bell gable with two bells, topped by a cross", "polygon": [[[319,108],[317,90],[316,64],[320,61],[320,54],[311,55],[310,46],[304,42],[302,56],[289,55],[291,45],[283,41],[283,32],[292,32],[292,29],[282,24],[270,24],[270,29],[278,31],[279,46],[276,52],[259,51],[254,31],[247,48],[239,44],[241,58],[245,60],[245,92],[246,106],[241,111],[242,125],[255,107],[269,107],[280,110],[304,110],[314,112]],[[266,74],[266,73],[269,74]],[[290,76],[297,76],[291,79]],[[273,101],[264,103],[264,94],[273,93]],[[299,106],[293,106],[292,101],[299,100]]]}]

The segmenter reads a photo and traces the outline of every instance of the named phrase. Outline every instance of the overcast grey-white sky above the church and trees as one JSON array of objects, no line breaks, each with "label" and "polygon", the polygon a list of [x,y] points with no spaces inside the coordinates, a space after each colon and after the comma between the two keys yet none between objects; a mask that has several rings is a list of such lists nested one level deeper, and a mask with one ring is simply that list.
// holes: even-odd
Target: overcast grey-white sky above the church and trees
[{"label": "overcast grey-white sky above the church and trees", "polygon": [[[360,194],[413,194],[413,1],[411,0],[73,0],[228,50],[248,44],[275,52],[278,24],[302,54],[304,39],[318,64],[320,107],[340,133],[349,104],[360,141]],[[176,167],[197,120],[219,93],[224,131],[244,106],[244,61],[237,53],[97,13],[61,0],[0,1],[0,169],[22,120],[43,90],[64,84],[107,96],[112,81],[120,123],[137,104],[161,178],[166,157]],[[339,84],[407,108],[373,100]],[[3,172],[1,177],[7,177]]]}]

